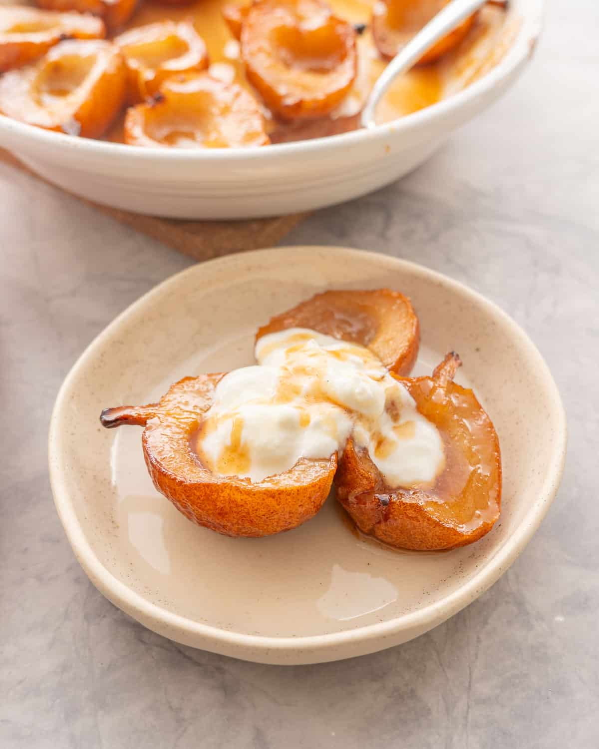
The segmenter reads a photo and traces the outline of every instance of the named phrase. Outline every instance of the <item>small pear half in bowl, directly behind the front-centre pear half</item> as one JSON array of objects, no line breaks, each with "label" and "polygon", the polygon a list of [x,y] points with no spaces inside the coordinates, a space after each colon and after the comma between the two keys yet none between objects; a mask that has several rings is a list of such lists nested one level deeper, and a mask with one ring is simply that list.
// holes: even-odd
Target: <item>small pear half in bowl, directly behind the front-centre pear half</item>
[{"label": "small pear half in bowl, directly behind the front-centre pear half", "polygon": [[158,21],[115,37],[129,79],[129,100],[139,103],[154,96],[166,79],[198,73],[208,67],[204,40],[189,21]]}]

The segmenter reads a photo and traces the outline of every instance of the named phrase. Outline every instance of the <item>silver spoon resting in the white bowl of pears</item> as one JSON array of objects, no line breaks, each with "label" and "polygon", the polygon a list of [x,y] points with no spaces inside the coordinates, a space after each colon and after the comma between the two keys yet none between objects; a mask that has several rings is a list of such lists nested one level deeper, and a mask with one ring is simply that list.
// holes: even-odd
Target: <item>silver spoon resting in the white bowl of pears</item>
[{"label": "silver spoon resting in the white bowl of pears", "polygon": [[[397,76],[409,70],[425,52],[437,41],[453,31],[456,26],[471,16],[475,10],[487,4],[488,0],[452,0],[440,10],[418,34],[413,36],[406,46],[402,47],[383,73],[378,77],[362,109],[362,127],[376,127],[375,119],[378,103]],[[499,4],[499,3],[497,3]],[[504,4],[503,2],[501,4]]]}]

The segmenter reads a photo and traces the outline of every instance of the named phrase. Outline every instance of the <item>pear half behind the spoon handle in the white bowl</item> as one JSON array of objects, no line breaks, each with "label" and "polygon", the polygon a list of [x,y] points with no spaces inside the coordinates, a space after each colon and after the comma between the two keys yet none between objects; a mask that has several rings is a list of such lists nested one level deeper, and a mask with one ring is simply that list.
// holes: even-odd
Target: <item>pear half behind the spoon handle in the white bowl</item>
[{"label": "pear half behind the spoon handle in the white bowl", "polygon": [[[425,26],[450,0],[384,0],[372,13],[374,43],[383,58],[395,57],[399,50]],[[419,59],[419,65],[437,61],[454,49],[468,34],[475,16],[469,16],[446,34]]]}]

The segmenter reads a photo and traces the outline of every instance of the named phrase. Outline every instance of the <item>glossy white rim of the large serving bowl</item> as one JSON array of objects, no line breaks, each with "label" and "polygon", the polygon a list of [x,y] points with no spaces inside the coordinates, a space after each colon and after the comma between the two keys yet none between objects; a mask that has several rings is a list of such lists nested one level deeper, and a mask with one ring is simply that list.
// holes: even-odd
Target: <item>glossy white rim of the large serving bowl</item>
[{"label": "glossy white rim of the large serving bowl", "polygon": [[61,148],[64,151],[86,151],[89,154],[106,158],[127,157],[136,162],[148,162],[159,160],[160,162],[180,162],[192,160],[201,161],[253,161],[277,159],[291,154],[306,154],[322,151],[323,149],[335,150],[359,145],[363,142],[379,142],[398,136],[412,130],[417,130],[423,124],[450,115],[457,109],[466,106],[472,100],[478,99],[488,91],[499,86],[502,81],[508,79],[520,64],[532,55],[535,43],[541,33],[544,15],[545,0],[523,0],[520,4],[520,16],[522,25],[516,39],[504,57],[491,70],[481,76],[480,79],[466,86],[457,94],[452,94],[446,99],[440,100],[431,106],[413,112],[410,115],[398,118],[391,122],[377,125],[371,129],[359,128],[349,133],[341,133],[323,138],[301,140],[290,143],[273,143],[268,148],[252,146],[250,148],[160,148],[138,146],[124,143],[112,143],[96,139],[82,139],[67,133],[56,133],[52,130],[34,125],[25,124],[0,114],[0,133],[9,133],[13,136],[22,136],[24,140],[36,142],[38,145],[46,145],[50,148]]}]

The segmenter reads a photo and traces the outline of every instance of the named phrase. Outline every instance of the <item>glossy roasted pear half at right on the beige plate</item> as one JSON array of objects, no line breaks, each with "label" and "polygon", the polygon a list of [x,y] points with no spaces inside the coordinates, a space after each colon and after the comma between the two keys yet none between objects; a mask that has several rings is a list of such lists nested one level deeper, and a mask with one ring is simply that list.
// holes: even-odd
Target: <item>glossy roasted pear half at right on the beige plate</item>
[{"label": "glossy roasted pear half at right on the beige plate", "polygon": [[499,440],[472,390],[453,382],[459,366],[451,353],[432,377],[397,377],[443,438],[445,464],[433,485],[389,488],[368,453],[348,441],[335,487],[362,533],[399,548],[437,551],[477,541],[499,518]]}]

